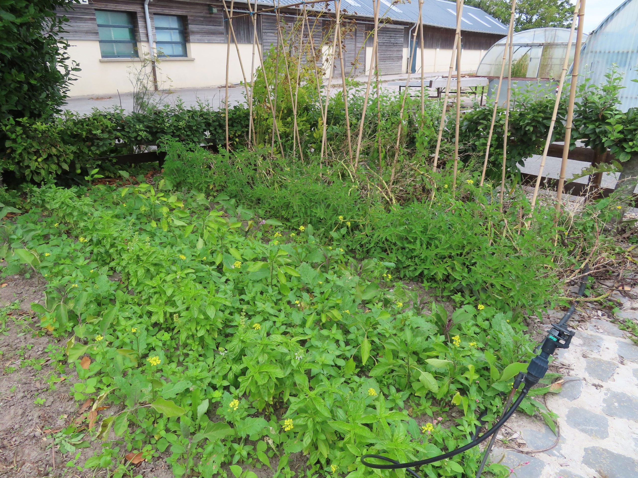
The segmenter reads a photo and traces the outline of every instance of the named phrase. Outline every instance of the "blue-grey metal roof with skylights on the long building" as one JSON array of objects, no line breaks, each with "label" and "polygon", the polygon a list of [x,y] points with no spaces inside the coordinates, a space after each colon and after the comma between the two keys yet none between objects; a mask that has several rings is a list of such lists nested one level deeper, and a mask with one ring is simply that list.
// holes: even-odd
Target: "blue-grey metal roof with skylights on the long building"
[{"label": "blue-grey metal roof with skylights on the long building", "polygon": [[[239,1],[239,0],[237,0]],[[398,22],[416,23],[419,18],[419,1],[411,3],[392,4],[392,0],[380,0],[380,18],[387,18]],[[299,0],[275,0],[275,4],[295,4]],[[252,2],[251,2],[252,3]],[[258,4],[272,6],[272,1],[259,1]],[[334,3],[329,2],[330,11],[334,11]],[[348,13],[356,13],[357,17],[374,18],[375,11],[372,0],[341,0],[341,8]],[[325,4],[315,3],[308,5],[309,10],[325,11]],[[447,0],[424,0],[422,10],[424,25],[432,25],[444,28],[456,28],[456,3]],[[487,15],[486,12],[473,6],[464,5],[461,15],[461,29],[463,31],[475,31],[480,33],[507,34],[507,26],[496,18]]]}]

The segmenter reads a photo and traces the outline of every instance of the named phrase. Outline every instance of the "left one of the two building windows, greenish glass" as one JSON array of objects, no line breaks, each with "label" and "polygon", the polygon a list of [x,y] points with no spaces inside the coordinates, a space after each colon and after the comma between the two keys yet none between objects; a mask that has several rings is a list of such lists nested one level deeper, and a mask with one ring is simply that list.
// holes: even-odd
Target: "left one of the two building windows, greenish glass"
[{"label": "left one of the two building windows, greenish glass", "polygon": [[133,15],[127,11],[95,11],[103,58],[137,57]]}]

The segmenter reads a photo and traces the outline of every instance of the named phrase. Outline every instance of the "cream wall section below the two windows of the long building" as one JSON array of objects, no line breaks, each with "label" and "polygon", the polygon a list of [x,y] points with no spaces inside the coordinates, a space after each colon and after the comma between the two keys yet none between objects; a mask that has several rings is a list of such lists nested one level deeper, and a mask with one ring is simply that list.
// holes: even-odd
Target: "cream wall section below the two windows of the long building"
[{"label": "cream wall section below the two windows of the long building", "polygon": [[[130,69],[140,68],[140,60],[101,59],[98,41],[73,40],[70,43],[70,57],[79,62],[82,68],[77,73],[78,79],[71,83],[70,96],[98,96],[133,91],[129,79]],[[149,51],[148,43],[140,43],[138,48],[140,55]],[[249,75],[253,46],[239,45],[239,51],[244,71]],[[188,59],[162,59],[159,62],[157,70],[160,85],[177,89],[204,88],[226,83],[226,43],[189,43],[188,54]],[[237,49],[232,45],[228,81],[237,83],[243,80]]]}]

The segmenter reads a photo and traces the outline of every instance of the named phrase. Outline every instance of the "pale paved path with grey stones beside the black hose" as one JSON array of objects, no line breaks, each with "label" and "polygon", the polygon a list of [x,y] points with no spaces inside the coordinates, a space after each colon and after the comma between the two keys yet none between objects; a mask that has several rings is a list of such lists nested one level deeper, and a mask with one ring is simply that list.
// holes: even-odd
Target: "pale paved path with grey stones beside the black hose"
[{"label": "pale paved path with grey stones beside the black hose", "polygon": [[[624,302],[616,316],[638,321],[638,300],[618,292],[613,296]],[[511,477],[638,477],[638,347],[609,320],[589,309],[570,321],[577,333],[553,362],[564,374],[560,393],[547,395],[547,408],[559,416],[558,444],[521,453],[556,442],[541,419],[523,413],[501,430],[507,445],[497,440],[500,448],[495,447],[492,458],[512,468]]]}]

